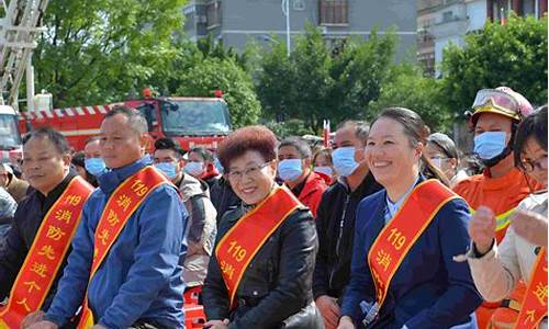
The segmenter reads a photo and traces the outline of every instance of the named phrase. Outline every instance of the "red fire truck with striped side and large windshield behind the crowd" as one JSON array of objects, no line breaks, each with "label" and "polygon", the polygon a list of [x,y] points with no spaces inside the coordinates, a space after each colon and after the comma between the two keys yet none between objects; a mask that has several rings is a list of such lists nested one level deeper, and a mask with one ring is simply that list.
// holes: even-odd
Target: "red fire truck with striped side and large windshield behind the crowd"
[{"label": "red fire truck with striped side and large windshield behind the crowd", "polygon": [[193,147],[215,149],[231,132],[228,107],[223,98],[179,97],[27,112],[20,117],[19,128],[24,134],[32,128],[51,126],[64,134],[76,150],[81,150],[88,138],[99,135],[104,114],[121,104],[143,114],[155,140],[171,137],[184,150]]}]

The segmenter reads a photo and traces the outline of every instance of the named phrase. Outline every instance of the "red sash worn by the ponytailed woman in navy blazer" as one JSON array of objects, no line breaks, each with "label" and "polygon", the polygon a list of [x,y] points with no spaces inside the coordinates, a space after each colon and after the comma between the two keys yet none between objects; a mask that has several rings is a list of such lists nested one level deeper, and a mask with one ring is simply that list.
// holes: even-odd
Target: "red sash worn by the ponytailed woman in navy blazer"
[{"label": "red sash worn by the ponytailed woman in navy blazer", "polygon": [[438,211],[459,197],[437,180],[417,184],[404,204],[381,230],[368,253],[379,309],[385,300],[394,273]]}]

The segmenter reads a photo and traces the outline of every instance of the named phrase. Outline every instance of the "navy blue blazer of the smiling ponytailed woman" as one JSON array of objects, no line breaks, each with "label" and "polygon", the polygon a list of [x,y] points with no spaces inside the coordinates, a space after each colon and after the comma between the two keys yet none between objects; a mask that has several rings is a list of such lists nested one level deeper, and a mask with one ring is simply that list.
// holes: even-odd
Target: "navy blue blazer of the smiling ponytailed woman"
[{"label": "navy blue blazer of the smiling ponytailed woman", "polygon": [[[341,306],[341,316],[349,316],[356,322],[363,318],[360,302],[376,299],[367,257],[385,225],[385,197],[386,191],[382,190],[362,200],[357,209],[351,279]],[[380,322],[373,328],[402,328],[404,325],[410,329],[456,325],[475,328],[471,314],[482,298],[467,263],[452,259],[464,253],[470,243],[468,222],[469,209],[461,198],[440,208],[396,270],[380,310]]]}]

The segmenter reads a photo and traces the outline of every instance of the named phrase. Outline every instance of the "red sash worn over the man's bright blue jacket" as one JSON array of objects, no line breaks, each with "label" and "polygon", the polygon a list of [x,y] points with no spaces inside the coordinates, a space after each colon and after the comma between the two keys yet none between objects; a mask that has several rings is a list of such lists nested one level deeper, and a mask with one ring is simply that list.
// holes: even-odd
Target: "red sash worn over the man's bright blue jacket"
[{"label": "red sash worn over the man's bright blue jacket", "polygon": [[[147,166],[127,178],[107,202],[107,205],[99,219],[93,237],[93,263],[91,264],[90,279],[93,279],[99,265],[109,254],[109,250],[116,241],[120,232],[139,207],[147,195],[161,184],[171,184],[164,174],[154,167]],[[94,319],[91,309],[88,307],[88,295],[83,300],[82,317],[78,324],[79,329],[93,327]]]}]

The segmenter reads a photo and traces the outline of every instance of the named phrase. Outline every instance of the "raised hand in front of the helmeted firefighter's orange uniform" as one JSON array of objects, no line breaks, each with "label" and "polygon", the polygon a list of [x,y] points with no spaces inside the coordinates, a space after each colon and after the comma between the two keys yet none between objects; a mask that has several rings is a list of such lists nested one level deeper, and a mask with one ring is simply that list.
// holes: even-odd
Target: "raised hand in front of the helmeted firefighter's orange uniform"
[{"label": "raised hand in front of the helmeted firefighter's orange uniform", "polygon": [[469,222],[469,236],[480,254],[490,251],[495,238],[495,216],[491,208],[480,206]]}]

